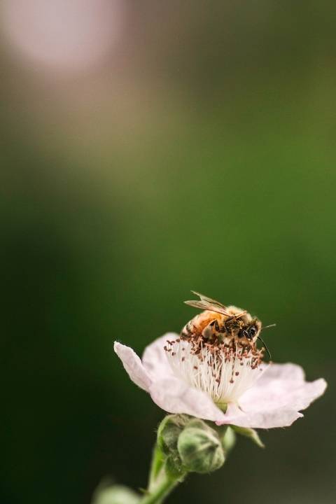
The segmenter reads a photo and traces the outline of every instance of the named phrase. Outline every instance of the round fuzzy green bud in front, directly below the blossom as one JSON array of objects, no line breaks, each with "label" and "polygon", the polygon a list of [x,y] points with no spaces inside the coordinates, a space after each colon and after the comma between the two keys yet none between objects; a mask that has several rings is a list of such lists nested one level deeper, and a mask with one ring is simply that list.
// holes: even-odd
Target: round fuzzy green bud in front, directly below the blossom
[{"label": "round fuzzy green bud in front, directly below the blossom", "polygon": [[177,443],[181,461],[190,472],[212,472],[224,461],[224,451],[216,430],[202,420],[188,422]]}]

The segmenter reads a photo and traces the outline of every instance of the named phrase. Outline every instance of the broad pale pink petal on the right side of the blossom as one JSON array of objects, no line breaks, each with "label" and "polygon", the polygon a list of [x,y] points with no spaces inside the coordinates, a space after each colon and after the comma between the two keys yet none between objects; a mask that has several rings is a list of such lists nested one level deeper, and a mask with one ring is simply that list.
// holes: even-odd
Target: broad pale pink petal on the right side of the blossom
[{"label": "broad pale pink petal on the right side of the blossom", "polygon": [[294,364],[272,364],[255,385],[241,396],[239,408],[229,405],[225,423],[251,428],[290,426],[303,416],[299,411],[323,394],[324,379],[304,381]]}]

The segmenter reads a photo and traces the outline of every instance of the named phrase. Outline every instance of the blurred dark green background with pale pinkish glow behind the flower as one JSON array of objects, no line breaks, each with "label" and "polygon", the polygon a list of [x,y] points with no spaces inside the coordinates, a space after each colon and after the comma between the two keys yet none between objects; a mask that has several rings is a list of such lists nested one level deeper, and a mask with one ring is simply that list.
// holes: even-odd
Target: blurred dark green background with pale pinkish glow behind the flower
[{"label": "blurred dark green background with pale pinkish glow behind the flower", "polygon": [[248,308],[325,377],[176,504],[335,503],[333,2],[3,0],[1,504],[146,486],[163,417],[113,353]]}]

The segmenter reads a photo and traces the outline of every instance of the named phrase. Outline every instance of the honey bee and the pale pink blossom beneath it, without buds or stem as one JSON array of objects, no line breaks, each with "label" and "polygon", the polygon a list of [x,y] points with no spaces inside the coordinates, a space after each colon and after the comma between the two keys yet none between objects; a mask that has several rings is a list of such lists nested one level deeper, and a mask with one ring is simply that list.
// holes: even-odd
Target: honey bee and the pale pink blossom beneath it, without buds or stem
[{"label": "honey bee and the pale pink blossom beneath it, without buds or stem", "polygon": [[[204,311],[178,335],[169,332],[147,346],[142,360],[115,342],[125,370],[169,413],[243,428],[289,426],[300,410],[323,394],[324,379],[306,381],[298,365],[264,361],[261,321],[245,310],[196,293],[188,301]],[[265,328],[264,328],[265,329]],[[264,348],[265,347],[265,348]]]}]

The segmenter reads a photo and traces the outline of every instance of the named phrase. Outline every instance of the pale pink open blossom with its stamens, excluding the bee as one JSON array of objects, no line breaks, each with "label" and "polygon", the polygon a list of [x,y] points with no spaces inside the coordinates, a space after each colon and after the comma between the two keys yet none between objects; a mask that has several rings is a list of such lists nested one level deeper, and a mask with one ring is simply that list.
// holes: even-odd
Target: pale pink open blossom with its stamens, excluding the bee
[{"label": "pale pink open blossom with its stamens, excluding the bee", "polygon": [[326,387],[324,379],[305,381],[298,365],[262,363],[260,350],[227,347],[215,358],[213,349],[174,333],[147,346],[142,361],[129,346],[115,342],[114,349],[132,381],[166,412],[218,425],[290,426]]}]

